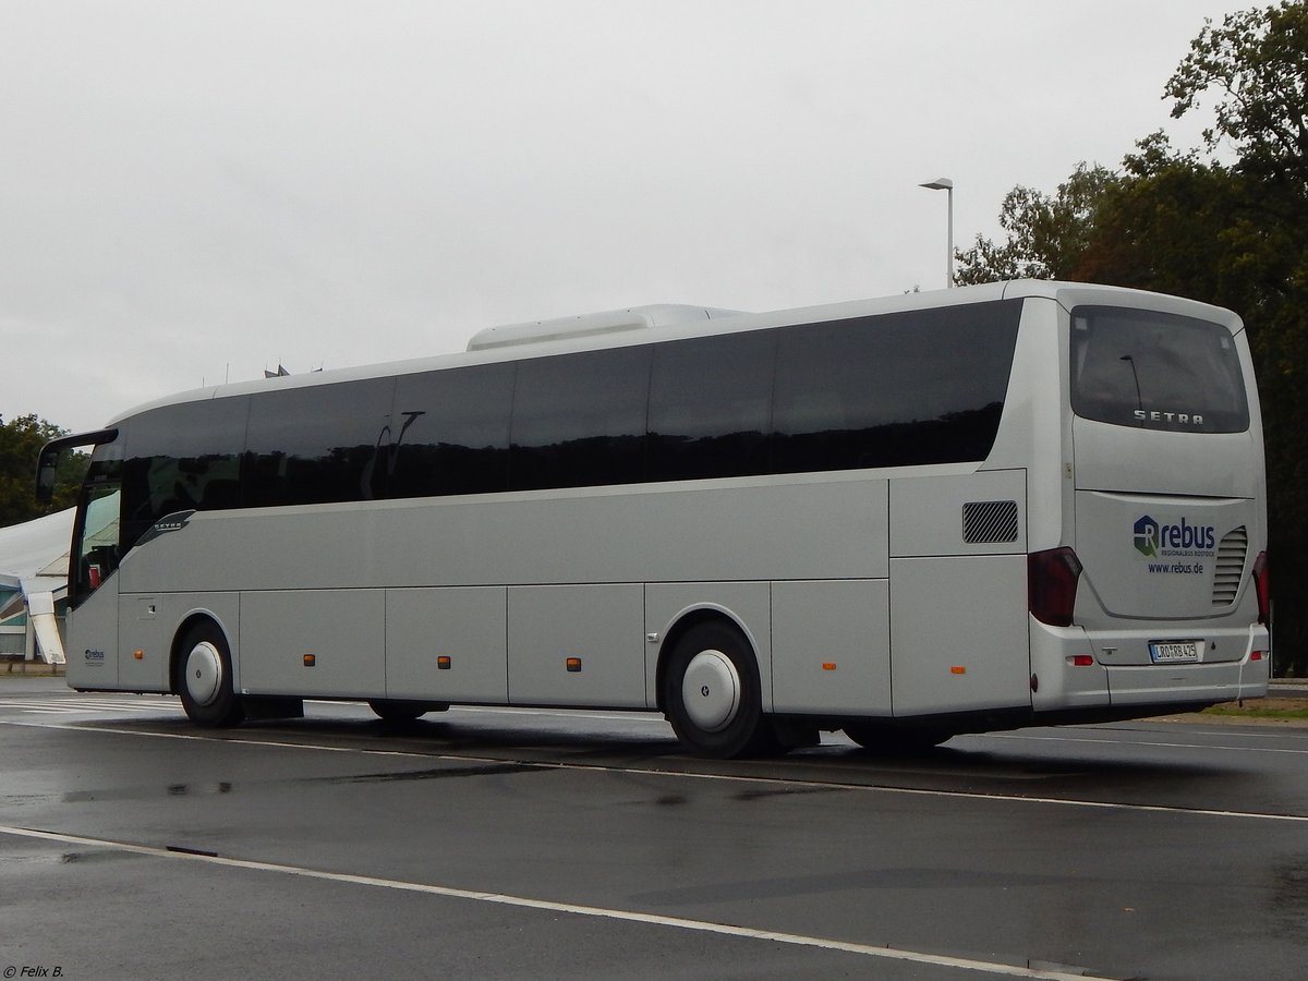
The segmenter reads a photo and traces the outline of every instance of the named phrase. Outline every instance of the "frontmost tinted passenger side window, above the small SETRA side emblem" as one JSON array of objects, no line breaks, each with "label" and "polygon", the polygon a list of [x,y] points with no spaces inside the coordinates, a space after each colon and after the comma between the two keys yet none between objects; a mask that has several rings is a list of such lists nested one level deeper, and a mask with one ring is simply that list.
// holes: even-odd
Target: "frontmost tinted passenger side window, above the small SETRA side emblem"
[{"label": "frontmost tinted passenger side window, above the small SETRA side emblem", "polygon": [[126,552],[156,521],[241,504],[241,449],[250,400],[203,399],[145,412],[120,426]]}]

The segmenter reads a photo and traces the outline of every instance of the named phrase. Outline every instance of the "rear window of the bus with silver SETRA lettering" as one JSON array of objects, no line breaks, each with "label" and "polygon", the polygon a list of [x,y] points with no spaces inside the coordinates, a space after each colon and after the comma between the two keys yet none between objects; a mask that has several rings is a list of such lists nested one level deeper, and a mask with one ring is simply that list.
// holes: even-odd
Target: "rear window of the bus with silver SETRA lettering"
[{"label": "rear window of the bus with silver SETRA lettering", "polygon": [[1222,324],[1113,306],[1071,314],[1071,408],[1141,429],[1243,433],[1240,353]]}]

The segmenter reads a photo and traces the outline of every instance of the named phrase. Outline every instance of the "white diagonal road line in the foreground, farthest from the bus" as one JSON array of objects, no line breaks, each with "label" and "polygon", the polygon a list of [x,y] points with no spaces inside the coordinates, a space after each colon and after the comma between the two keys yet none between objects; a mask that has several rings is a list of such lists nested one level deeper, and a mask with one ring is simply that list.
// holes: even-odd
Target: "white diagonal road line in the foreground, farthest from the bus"
[{"label": "white diagonal road line in the foreground, farthest from the bus", "polygon": [[318,879],[322,882],[344,883],[348,886],[369,886],[373,888],[395,889],[399,892],[420,892],[446,899],[471,900],[473,903],[493,903],[502,906],[518,906],[522,909],[539,909],[551,913],[570,913],[573,916],[591,917],[596,920],[617,920],[629,923],[646,923],[649,926],[666,926],[676,930],[693,930],[696,933],[718,934],[721,937],[739,937],[749,940],[770,940],[794,947],[818,947],[842,954],[857,954],[865,957],[883,957],[887,960],[903,960],[913,964],[931,964],[943,968],[956,968],[959,971],[978,971],[988,974],[1002,974],[1005,977],[1044,978],[1045,981],[1107,981],[1092,974],[1070,974],[1059,971],[1040,971],[1035,968],[1018,967],[998,961],[971,960],[967,957],[947,957],[938,954],[925,954],[921,951],[900,950],[896,947],[874,947],[866,943],[850,943],[848,940],[833,940],[824,937],[808,937],[804,934],[787,934],[773,930],[755,930],[748,926],[734,923],[714,923],[706,920],[687,920],[684,917],[657,916],[654,913],[637,913],[628,909],[610,909],[606,906],[583,906],[574,903],[555,903],[551,900],[530,899],[527,896],[509,896],[502,892],[481,892],[476,889],[459,889],[449,886],[434,886],[430,883],[405,882],[402,879],[379,879],[370,875],[351,875],[348,872],[328,872],[305,866],[281,865],[276,862],[255,862],[241,858],[224,858],[222,855],[195,854],[191,852],[174,852],[166,848],[153,848],[149,845],[133,845],[126,841],[111,841],[107,838],[89,838],[78,835],[59,835],[48,831],[33,828],[14,828],[0,825],[0,835],[16,837],[37,838],[41,841],[55,841],[64,845],[80,845],[92,848],[107,848],[118,852],[127,852],[139,855],[152,855],[154,858],[181,859],[186,862],[201,862],[226,869],[246,869],[258,872],[276,872],[279,875],[293,875],[303,879]]}]

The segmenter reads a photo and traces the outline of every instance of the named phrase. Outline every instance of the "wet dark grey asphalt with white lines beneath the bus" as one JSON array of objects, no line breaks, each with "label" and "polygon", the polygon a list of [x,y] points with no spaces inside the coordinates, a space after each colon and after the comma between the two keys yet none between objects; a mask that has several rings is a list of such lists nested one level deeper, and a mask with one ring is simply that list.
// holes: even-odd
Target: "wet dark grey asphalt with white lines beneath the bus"
[{"label": "wet dark grey asphalt with white lines beneath the bus", "polygon": [[306,708],[0,681],[0,974],[1308,974],[1308,729],[712,763],[654,715]]}]

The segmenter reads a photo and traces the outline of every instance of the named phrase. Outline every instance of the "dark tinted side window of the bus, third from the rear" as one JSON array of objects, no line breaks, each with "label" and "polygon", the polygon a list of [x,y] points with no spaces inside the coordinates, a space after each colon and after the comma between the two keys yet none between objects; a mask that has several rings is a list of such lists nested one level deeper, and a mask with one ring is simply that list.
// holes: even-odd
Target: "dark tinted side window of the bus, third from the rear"
[{"label": "dark tinted side window of the bus, third from the rear", "polygon": [[649,361],[640,347],[519,362],[510,487],[642,480]]}]

